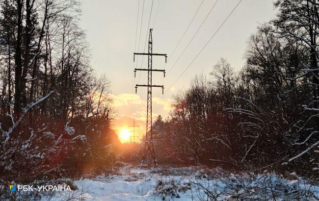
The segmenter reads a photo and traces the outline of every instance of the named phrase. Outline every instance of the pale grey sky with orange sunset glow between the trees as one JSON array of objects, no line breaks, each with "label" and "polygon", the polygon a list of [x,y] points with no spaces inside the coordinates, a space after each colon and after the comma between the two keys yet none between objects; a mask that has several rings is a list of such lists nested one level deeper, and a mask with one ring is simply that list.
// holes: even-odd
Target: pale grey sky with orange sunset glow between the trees
[{"label": "pale grey sky with orange sunset glow between the trees", "polygon": [[[133,68],[147,68],[147,57],[139,56],[133,63],[133,52],[147,52],[149,28],[153,28],[153,53],[166,53],[169,58],[165,64],[163,57],[153,57],[153,69],[165,69],[167,73],[165,78],[162,73],[153,73],[153,84],[163,84],[165,94],[162,95],[160,88],[153,89],[152,116],[153,119],[158,115],[166,118],[173,95],[187,89],[195,75],[209,75],[213,65],[221,57],[226,58],[235,69],[239,70],[245,62],[243,55],[249,37],[256,32],[258,25],[271,20],[275,14],[273,0],[242,0],[207,47],[171,86],[239,0],[217,0],[217,2],[204,0],[173,54],[174,48],[202,0],[81,0],[81,2],[80,26],[86,31],[92,49],[92,66],[98,75],[104,74],[111,81],[110,96],[117,110],[114,128],[120,132],[121,129],[133,126],[135,118],[135,126],[140,126],[140,136],[145,134],[147,89],[139,87],[135,95],[133,86],[137,83],[147,84],[147,74],[137,72],[136,78],[133,78]],[[210,15],[185,50],[213,4],[215,6]],[[171,71],[168,71],[170,69]]]}]

